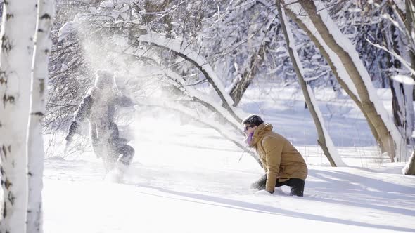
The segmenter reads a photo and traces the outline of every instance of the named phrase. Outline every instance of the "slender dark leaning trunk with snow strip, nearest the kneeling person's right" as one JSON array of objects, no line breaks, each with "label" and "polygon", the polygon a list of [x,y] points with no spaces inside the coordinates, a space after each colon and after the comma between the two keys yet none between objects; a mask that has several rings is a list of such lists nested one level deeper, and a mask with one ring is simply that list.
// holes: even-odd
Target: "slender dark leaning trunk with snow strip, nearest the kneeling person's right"
[{"label": "slender dark leaning trunk with snow strip, nearest the kneeling person's right", "polygon": [[328,135],[326,128],[324,127],[324,119],[321,115],[319,106],[314,99],[314,94],[312,89],[307,85],[304,80],[304,69],[302,68],[302,64],[300,62],[300,58],[298,57],[297,50],[295,49],[293,33],[291,32],[288,22],[286,20],[286,14],[281,8],[280,1],[276,1],[276,8],[279,13],[279,18],[281,21],[281,27],[283,29],[283,34],[286,39],[288,53],[290,55],[291,62],[293,62],[293,67],[295,70],[295,74],[297,74],[298,82],[302,88],[302,93],[305,98],[305,102],[307,103],[309,113],[312,115],[314,124],[317,129],[318,140],[321,149],[323,149],[324,154],[326,155],[328,161],[330,162],[331,166],[345,166],[343,163],[340,155],[338,154],[336,148],[333,145],[333,141]]}]

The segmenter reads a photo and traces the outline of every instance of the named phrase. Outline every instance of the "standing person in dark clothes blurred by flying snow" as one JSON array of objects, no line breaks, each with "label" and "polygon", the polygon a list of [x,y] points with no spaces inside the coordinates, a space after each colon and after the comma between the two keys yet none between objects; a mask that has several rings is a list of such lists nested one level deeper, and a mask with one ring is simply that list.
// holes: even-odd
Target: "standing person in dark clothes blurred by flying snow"
[{"label": "standing person in dark clothes blurred by flying snow", "polygon": [[134,148],[128,140],[120,138],[117,124],[114,123],[115,105],[130,107],[134,102],[114,91],[114,76],[103,70],[96,71],[94,87],[82,99],[65,140],[67,147],[85,119],[89,120],[89,136],[97,157],[101,157],[106,171],[117,169],[123,173],[134,157]]}]

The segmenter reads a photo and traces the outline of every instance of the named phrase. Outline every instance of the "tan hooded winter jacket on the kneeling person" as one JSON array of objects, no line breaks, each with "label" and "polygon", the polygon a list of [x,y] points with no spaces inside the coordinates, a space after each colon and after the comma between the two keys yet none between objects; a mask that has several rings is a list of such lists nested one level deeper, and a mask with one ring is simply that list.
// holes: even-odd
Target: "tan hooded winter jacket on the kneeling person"
[{"label": "tan hooded winter jacket on the kneeling person", "polygon": [[272,132],[271,124],[260,124],[253,134],[251,147],[260,155],[267,176],[266,190],[274,192],[276,180],[307,178],[307,165],[300,152],[282,135]]}]

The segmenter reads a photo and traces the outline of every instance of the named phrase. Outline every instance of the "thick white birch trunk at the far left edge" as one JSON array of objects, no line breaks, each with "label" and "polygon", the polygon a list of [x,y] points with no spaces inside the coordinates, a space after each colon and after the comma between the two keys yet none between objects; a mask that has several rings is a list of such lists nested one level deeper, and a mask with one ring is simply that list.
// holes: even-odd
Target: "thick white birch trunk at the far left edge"
[{"label": "thick white birch trunk at the far left edge", "polygon": [[36,4],[4,1],[0,51],[0,232],[25,232],[26,134]]}]

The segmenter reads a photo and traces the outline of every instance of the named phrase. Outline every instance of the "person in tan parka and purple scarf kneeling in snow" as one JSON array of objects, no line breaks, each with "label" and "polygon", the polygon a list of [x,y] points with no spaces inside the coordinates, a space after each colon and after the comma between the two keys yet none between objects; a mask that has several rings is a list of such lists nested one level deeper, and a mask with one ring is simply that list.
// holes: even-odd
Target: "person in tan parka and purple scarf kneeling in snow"
[{"label": "person in tan parka and purple scarf kneeling in snow", "polygon": [[265,170],[265,174],[253,183],[252,188],[274,193],[275,187],[288,185],[291,196],[302,197],[307,165],[300,152],[282,135],[272,132],[272,125],[264,124],[260,116],[248,116],[242,123],[245,142],[257,150]]}]

